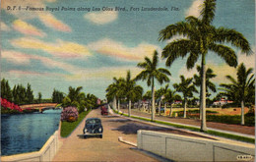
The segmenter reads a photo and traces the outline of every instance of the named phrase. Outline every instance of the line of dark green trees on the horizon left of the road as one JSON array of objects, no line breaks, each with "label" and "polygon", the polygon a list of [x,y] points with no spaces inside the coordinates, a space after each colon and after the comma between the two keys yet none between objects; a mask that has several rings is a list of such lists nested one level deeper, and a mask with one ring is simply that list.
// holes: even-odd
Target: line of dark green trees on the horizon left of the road
[{"label": "line of dark green trees on the horizon left of the road", "polygon": [[91,93],[85,93],[81,90],[83,86],[74,88],[69,86],[69,93],[66,94],[57,89],[53,89],[51,98],[43,99],[41,92],[38,92],[37,98],[34,98],[31,84],[28,82],[27,87],[23,84],[15,84],[11,88],[9,81],[1,80],[1,98],[5,98],[17,105],[34,104],[34,103],[59,103],[62,106],[76,106],[79,112],[85,108],[92,109],[96,107],[97,97]]}]

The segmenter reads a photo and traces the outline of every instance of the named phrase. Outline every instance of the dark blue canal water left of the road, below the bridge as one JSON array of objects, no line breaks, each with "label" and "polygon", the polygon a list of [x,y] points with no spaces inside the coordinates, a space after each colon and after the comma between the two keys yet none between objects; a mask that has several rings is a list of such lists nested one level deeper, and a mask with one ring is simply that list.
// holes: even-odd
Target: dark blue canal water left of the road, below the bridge
[{"label": "dark blue canal water left of the road, below the bridge", "polygon": [[59,127],[61,110],[1,115],[1,155],[38,151]]}]

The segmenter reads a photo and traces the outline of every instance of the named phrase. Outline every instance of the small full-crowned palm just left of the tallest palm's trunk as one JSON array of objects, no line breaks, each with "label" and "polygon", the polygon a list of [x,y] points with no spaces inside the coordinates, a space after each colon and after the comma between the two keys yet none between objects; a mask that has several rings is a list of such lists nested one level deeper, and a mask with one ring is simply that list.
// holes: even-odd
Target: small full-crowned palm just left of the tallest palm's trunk
[{"label": "small full-crowned palm just left of the tallest palm's trunk", "polygon": [[185,79],[184,76],[180,76],[180,83],[173,83],[173,87],[176,91],[181,92],[184,98],[184,118],[186,118],[186,108],[188,97],[193,96],[193,92],[198,92],[195,85],[193,84],[193,78]]}]

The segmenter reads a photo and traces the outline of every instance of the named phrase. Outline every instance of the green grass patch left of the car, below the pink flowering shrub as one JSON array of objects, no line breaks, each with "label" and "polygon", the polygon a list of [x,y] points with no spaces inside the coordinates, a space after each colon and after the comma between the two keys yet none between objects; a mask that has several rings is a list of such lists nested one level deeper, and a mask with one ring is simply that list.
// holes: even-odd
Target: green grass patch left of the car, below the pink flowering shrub
[{"label": "green grass patch left of the car, below the pink flowering shrub", "polygon": [[60,135],[67,137],[78,127],[78,125],[84,120],[84,118],[90,113],[91,110],[85,111],[79,114],[78,120],[75,122],[62,122],[60,128]]}]

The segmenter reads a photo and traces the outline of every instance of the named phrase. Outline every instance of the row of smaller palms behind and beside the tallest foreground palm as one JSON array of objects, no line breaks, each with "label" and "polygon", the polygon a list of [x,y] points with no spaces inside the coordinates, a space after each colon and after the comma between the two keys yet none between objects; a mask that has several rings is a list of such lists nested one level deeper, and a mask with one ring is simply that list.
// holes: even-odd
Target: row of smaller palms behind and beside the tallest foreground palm
[{"label": "row of smaller palms behind and beside the tallest foreground palm", "polygon": [[[113,98],[117,99],[117,110],[120,110],[120,100],[127,99],[129,100],[129,108],[128,108],[128,115],[131,116],[131,102],[138,101],[143,97],[145,99],[152,99],[152,121],[155,120],[155,100],[157,98],[161,98],[163,96],[163,103],[164,103],[164,112],[166,110],[166,104],[170,103],[170,115],[172,114],[172,104],[175,100],[181,100],[181,97],[176,94],[176,92],[180,92],[183,95],[184,100],[184,118],[186,118],[186,107],[187,107],[187,100],[188,98],[193,97],[193,93],[198,93],[198,90],[195,86],[199,85],[200,82],[200,75],[194,75],[194,78],[185,78],[184,76],[180,76],[179,83],[173,83],[173,87],[175,90],[171,90],[168,88],[169,84],[166,84],[165,87],[161,87],[159,90],[155,90],[155,86],[151,81],[159,81],[160,84],[165,80],[165,82],[169,81],[167,77],[170,76],[170,73],[166,69],[157,68],[155,65],[158,64],[151,64],[158,62],[158,53],[155,52],[154,57],[152,60],[149,58],[145,58],[145,62],[139,63],[138,66],[142,67],[141,65],[147,63],[148,65],[145,66],[144,70],[133,80],[131,80],[131,73],[130,71],[127,72],[126,80],[124,78],[113,78],[113,83],[109,84],[106,88],[106,97],[107,100],[113,100]],[[145,64],[146,65],[146,64]],[[197,66],[197,70],[200,74],[200,66]],[[165,74],[161,73],[164,72]],[[220,93],[222,96],[226,96],[228,99],[239,101],[241,103],[241,125],[244,125],[244,102],[247,99],[247,102],[254,102],[254,94],[255,94],[255,79],[254,75],[252,74],[253,69],[249,68],[246,70],[244,64],[240,64],[237,68],[237,80],[233,79],[230,76],[226,76],[226,78],[231,81],[231,83],[221,83],[220,88],[222,92]],[[155,77],[154,74],[159,74],[160,76]],[[157,75],[156,75],[157,76]],[[216,92],[216,85],[210,81],[210,79],[215,78],[217,75],[214,74],[213,70],[208,68],[206,74],[206,91],[207,96],[210,96],[211,93],[209,89]],[[147,91],[144,96],[143,88],[140,85],[136,85],[136,81],[147,81],[149,86],[152,86],[152,91]],[[160,112],[160,108],[159,108]],[[202,111],[200,111],[200,119],[202,119]]]}]

